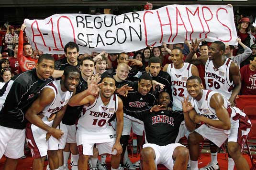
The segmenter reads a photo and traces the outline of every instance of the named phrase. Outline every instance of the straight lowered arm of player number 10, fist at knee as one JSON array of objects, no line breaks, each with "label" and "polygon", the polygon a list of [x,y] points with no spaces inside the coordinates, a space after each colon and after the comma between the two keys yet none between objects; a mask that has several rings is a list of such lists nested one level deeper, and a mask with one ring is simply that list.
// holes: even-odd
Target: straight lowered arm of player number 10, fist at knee
[{"label": "straight lowered arm of player number 10, fist at knee", "polygon": [[113,145],[112,151],[114,149],[117,150],[116,155],[120,155],[122,153],[122,146],[120,144],[120,138],[122,136],[122,128],[123,128],[123,110],[122,110],[122,100],[118,97],[118,109],[116,111],[116,140]]}]

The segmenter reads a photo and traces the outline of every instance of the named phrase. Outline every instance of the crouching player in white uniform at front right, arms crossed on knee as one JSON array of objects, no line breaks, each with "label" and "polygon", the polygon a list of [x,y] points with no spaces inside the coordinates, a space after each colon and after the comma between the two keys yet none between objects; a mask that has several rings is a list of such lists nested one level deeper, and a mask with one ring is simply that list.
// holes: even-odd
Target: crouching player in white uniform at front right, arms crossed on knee
[{"label": "crouching player in white uniform at front right, arms crossed on knee", "polygon": [[198,170],[199,145],[205,139],[211,140],[218,147],[228,139],[228,153],[233,158],[236,169],[249,170],[249,165],[241,154],[251,128],[251,122],[245,113],[230,106],[230,102],[220,93],[203,90],[202,82],[197,76],[189,77],[187,90],[192,97],[192,106],[189,106],[187,98],[183,103],[183,112],[189,112],[189,117],[195,124],[204,122],[189,134],[191,170]]}]

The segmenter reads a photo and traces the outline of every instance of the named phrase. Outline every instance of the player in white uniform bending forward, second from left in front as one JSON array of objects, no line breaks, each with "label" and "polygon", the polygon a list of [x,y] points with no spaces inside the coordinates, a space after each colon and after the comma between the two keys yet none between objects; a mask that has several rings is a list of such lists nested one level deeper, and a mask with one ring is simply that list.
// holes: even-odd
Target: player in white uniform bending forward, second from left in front
[{"label": "player in white uniform bending forward, second from left in front", "polygon": [[[25,118],[30,121],[26,127],[26,138],[34,158],[33,170],[44,169],[47,150],[50,169],[59,167],[58,140],[63,132],[56,130],[52,137],[49,136],[62,120],[66,104],[78,85],[79,72],[75,66],[66,67],[61,80],[46,85],[25,114]],[[63,170],[63,166],[60,169]]]}]

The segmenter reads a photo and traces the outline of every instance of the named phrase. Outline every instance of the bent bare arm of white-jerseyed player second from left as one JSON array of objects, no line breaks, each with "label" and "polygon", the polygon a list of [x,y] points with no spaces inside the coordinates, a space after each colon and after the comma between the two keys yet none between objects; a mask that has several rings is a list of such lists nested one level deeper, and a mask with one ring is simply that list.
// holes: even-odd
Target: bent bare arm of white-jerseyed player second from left
[{"label": "bent bare arm of white-jerseyed player second from left", "polygon": [[45,88],[26,111],[25,118],[35,126],[47,131],[55,138],[60,138],[63,134],[61,130],[54,129],[46,125],[38,114],[45,109],[46,106],[52,103],[55,99],[55,93],[50,88]]}]

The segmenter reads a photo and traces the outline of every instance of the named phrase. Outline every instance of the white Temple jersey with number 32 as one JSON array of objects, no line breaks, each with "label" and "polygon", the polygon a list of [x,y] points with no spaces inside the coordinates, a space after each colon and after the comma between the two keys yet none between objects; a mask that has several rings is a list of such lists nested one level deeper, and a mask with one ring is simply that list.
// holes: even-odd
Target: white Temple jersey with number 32
[{"label": "white Temple jersey with number 32", "polygon": [[189,96],[186,84],[188,78],[192,76],[191,68],[192,64],[188,62],[184,62],[181,69],[175,69],[173,63],[169,64],[167,68],[167,73],[171,76],[172,104],[179,110],[182,110],[181,100],[183,100],[183,96]]}]

